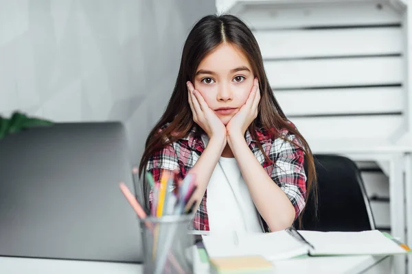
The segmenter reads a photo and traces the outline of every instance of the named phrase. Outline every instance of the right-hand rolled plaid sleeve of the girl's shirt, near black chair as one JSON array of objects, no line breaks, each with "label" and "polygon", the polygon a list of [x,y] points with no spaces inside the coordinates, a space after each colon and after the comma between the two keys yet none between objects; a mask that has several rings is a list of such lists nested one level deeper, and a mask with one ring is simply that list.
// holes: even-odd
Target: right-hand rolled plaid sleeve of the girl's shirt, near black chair
[{"label": "right-hand rolled plaid sleeve of the girl's shirt, near black chair", "polygon": [[304,151],[300,140],[294,134],[285,134],[276,138],[271,146],[269,158],[275,162],[269,173],[275,182],[288,196],[295,208],[295,219],[304,210],[306,197],[306,174],[304,170]]}]

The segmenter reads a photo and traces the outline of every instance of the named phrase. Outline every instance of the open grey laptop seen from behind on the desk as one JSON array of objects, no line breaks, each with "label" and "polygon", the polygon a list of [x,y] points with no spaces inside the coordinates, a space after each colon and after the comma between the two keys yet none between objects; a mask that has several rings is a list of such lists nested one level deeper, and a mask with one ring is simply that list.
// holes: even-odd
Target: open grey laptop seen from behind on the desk
[{"label": "open grey laptop seen from behind on the desk", "polygon": [[0,256],[141,262],[121,123],[57,123],[0,139]]}]

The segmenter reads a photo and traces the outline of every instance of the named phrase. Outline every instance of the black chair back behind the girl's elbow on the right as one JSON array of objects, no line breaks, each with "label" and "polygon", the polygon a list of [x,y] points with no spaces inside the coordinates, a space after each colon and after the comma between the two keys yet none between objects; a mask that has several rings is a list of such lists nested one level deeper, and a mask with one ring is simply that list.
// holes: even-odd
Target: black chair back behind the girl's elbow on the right
[{"label": "black chair back behind the girl's elbow on the right", "polygon": [[[314,200],[309,197],[301,229],[322,232],[375,229],[361,172],[356,164],[339,155],[314,155],[314,158],[318,206],[316,209]],[[295,227],[299,228],[297,222]]]}]

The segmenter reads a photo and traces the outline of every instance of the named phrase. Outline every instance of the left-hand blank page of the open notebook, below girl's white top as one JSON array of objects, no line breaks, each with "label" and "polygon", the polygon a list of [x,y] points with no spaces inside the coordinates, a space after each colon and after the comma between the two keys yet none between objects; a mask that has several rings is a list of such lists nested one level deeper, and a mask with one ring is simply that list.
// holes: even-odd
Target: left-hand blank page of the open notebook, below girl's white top
[{"label": "left-hand blank page of the open notebook, below girl's white top", "polygon": [[284,260],[308,253],[303,245],[288,232],[231,234],[231,236],[203,236],[203,244],[210,258],[232,256],[263,256],[266,260]]}]

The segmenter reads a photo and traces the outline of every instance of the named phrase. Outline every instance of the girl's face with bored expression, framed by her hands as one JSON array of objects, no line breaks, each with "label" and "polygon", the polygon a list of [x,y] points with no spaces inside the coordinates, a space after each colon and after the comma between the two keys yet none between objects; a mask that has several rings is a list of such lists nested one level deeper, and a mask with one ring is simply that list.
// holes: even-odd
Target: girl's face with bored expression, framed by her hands
[{"label": "girl's face with bored expression, framed by her hands", "polygon": [[209,108],[227,125],[246,103],[253,79],[251,65],[242,51],[223,43],[203,58],[193,84]]}]

